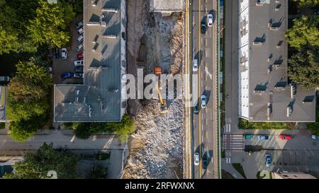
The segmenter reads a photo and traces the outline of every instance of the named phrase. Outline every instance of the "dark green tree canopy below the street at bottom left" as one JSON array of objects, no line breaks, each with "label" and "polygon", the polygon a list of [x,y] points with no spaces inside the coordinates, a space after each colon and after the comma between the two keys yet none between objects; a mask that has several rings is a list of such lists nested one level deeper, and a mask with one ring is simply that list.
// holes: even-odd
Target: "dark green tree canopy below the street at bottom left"
[{"label": "dark green tree canopy below the street at bottom left", "polygon": [[69,151],[57,151],[52,144],[43,144],[38,151],[27,153],[21,162],[13,165],[14,172],[5,174],[9,179],[46,179],[47,172],[57,172],[58,179],[79,178],[77,165],[79,157]]}]

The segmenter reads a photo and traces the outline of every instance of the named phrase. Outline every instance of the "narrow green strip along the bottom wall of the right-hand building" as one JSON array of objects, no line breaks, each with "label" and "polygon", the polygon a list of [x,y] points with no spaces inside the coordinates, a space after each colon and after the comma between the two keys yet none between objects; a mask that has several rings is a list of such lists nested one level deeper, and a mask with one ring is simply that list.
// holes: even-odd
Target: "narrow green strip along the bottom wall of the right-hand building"
[{"label": "narrow green strip along the bottom wall of the right-hand building", "polygon": [[246,119],[239,119],[240,129],[296,129],[293,122],[249,122]]}]

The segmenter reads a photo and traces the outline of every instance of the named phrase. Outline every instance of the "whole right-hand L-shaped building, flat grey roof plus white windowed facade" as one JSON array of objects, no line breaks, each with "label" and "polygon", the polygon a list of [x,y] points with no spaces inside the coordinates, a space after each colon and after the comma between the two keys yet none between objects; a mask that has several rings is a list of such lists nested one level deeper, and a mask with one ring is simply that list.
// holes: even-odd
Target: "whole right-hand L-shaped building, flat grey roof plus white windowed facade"
[{"label": "whole right-hand L-shaped building, flat grey roof plus white windowed facade", "polygon": [[242,0],[239,115],[252,122],[315,122],[315,89],[289,82],[288,0]]}]

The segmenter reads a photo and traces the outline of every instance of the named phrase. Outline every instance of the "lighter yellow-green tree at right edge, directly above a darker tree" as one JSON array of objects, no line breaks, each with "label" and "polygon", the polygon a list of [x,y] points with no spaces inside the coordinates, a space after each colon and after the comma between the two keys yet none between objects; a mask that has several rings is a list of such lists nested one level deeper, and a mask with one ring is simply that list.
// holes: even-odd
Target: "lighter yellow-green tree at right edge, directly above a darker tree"
[{"label": "lighter yellow-green tree at right edge, directly above a darker tree", "polygon": [[319,16],[302,16],[293,20],[285,37],[289,45],[296,49],[310,45],[319,46]]}]

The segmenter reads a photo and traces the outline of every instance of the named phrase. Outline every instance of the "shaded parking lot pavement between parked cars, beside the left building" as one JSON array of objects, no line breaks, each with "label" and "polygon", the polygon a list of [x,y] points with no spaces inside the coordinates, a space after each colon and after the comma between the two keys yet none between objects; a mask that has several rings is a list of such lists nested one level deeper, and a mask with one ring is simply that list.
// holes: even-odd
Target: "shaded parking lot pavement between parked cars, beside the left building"
[{"label": "shaded parking lot pavement between parked cars, beside the left building", "polygon": [[77,54],[83,52],[83,49],[80,52],[77,52],[77,45],[80,43],[77,42],[77,37],[79,34],[77,28],[75,28],[75,23],[81,19],[74,19],[71,25],[71,34],[72,41],[70,45],[65,46],[67,48],[67,59],[61,58],[61,49],[58,49],[60,57],[53,57],[53,79],[55,84],[82,84],[83,78],[62,78],[62,74],[67,72],[74,73],[74,61],[77,60]]}]

